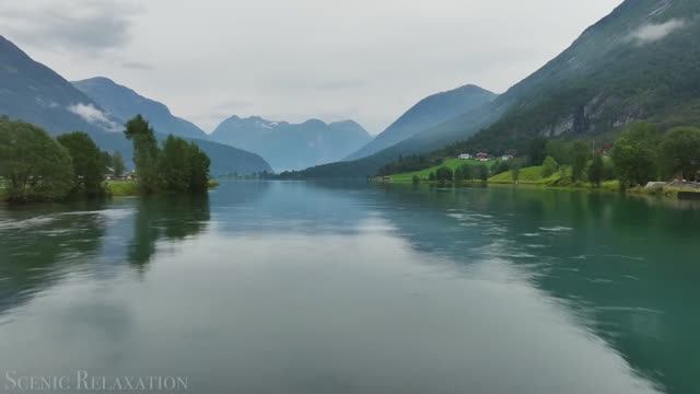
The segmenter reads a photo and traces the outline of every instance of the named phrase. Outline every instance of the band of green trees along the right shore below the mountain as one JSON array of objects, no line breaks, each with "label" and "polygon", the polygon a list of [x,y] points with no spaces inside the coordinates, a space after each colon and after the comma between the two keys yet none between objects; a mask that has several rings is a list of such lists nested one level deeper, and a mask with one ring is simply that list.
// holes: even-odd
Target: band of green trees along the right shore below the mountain
[{"label": "band of green trees along the right shore below the mountain", "polygon": [[[422,162],[427,162],[425,159]],[[398,162],[393,167],[413,167],[413,164],[409,159],[408,163]],[[559,173],[561,184],[588,182],[600,186],[604,181],[618,179],[622,189],[651,181],[697,181],[700,179],[700,128],[676,127],[664,131],[651,124],[633,124],[608,147],[596,147],[593,141],[538,137],[521,158],[497,161],[482,169],[468,163],[454,170],[441,166],[429,174],[428,181],[486,181],[510,171],[512,181],[517,183],[524,165],[539,166],[541,178]],[[413,176],[412,181],[421,179]]]}]

